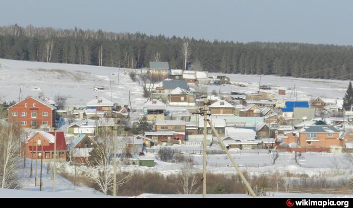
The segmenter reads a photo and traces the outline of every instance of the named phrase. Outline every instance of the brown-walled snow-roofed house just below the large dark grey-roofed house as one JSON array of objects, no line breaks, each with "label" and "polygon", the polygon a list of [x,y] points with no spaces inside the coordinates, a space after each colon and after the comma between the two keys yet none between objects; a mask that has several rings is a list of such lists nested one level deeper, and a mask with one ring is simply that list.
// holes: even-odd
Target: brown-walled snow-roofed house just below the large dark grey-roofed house
[{"label": "brown-walled snow-roofed house just below the large dark grey-roofed house", "polygon": [[169,93],[169,105],[194,106],[196,97],[181,88]]}]

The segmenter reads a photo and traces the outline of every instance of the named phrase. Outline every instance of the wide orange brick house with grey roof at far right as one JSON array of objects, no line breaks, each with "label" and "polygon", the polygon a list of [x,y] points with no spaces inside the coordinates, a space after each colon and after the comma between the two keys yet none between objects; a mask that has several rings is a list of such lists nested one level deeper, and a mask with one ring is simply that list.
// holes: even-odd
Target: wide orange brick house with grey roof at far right
[{"label": "wide orange brick house with grey roof at far right", "polygon": [[339,130],[333,126],[315,124],[304,127],[299,133],[299,144],[301,147],[344,147],[344,140],[339,138]]}]

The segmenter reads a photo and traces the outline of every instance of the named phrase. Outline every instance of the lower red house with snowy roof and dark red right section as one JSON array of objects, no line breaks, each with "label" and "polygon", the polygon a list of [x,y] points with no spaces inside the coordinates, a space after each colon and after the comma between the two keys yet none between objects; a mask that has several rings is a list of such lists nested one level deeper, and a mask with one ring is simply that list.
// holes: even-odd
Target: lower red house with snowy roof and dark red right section
[{"label": "lower red house with snowy roof and dark red right section", "polygon": [[[43,147],[43,159],[54,158],[55,132],[31,131],[27,135],[25,143],[27,158],[41,158]],[[36,154],[37,153],[37,154]],[[56,158],[66,160],[67,145],[63,131],[56,132]]]}]

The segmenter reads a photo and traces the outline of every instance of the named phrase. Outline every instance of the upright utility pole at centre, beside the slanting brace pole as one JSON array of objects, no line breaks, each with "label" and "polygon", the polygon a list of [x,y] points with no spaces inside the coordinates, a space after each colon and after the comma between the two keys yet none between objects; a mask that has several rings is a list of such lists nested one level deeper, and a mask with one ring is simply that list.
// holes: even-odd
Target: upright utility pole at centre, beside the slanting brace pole
[{"label": "upright utility pole at centre, beside the slanting brace pole", "polygon": [[201,98],[204,98],[204,103],[203,103],[203,109],[201,112],[203,112],[203,171],[202,171],[202,185],[203,185],[203,190],[202,190],[202,197],[206,198],[206,154],[207,154],[207,95],[201,96]]}]

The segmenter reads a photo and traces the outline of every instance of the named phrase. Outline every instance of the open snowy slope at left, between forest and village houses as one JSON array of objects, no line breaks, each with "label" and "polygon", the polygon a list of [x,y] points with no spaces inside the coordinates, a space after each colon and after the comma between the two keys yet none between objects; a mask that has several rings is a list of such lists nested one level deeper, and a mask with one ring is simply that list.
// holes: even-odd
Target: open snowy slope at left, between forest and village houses
[{"label": "open snowy slope at left, between forest and village houses", "polygon": [[[127,105],[130,90],[132,107],[136,108],[146,99],[142,97],[142,87],[130,79],[129,71],[131,69],[0,59],[0,99],[18,101],[22,85],[22,98],[44,93],[54,99],[60,94],[68,96],[67,105],[74,106],[100,96],[108,100],[112,97],[114,103]],[[102,85],[105,90],[93,91],[95,85]]]}]

